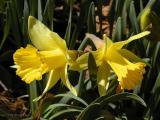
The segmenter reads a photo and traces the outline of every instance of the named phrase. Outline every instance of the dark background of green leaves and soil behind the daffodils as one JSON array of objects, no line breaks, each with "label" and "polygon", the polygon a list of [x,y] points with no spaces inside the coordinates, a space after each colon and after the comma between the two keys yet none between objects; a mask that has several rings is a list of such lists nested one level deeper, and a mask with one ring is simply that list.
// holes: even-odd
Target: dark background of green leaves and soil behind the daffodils
[{"label": "dark background of green leaves and soil behind the daffodils", "polygon": [[[149,12],[147,12],[148,9]],[[33,85],[27,85],[16,76],[15,69],[11,68],[14,65],[13,53],[18,48],[25,47],[30,43],[27,22],[28,16],[32,15],[64,38],[69,49],[75,50],[84,41],[85,33],[92,33],[100,38],[106,34],[114,42],[117,42],[126,40],[131,35],[150,30],[151,35],[142,38],[142,41],[126,46],[126,49],[131,50],[150,65],[146,68],[145,78],[141,85],[133,91],[126,91],[140,96],[147,106],[144,107],[132,100],[126,100],[108,105],[107,112],[103,109],[97,113],[95,107],[91,112],[84,113],[88,116],[97,113],[97,116],[103,116],[103,119],[106,120],[160,120],[159,13],[159,0],[0,0],[0,119],[62,120],[63,117],[66,118],[66,116],[60,118],[54,116],[54,118],[52,110],[55,109],[50,110],[50,113],[42,110],[57,101],[61,103],[64,96],[60,99],[61,101],[58,99],[54,102],[54,100],[50,100],[52,98],[49,95],[47,102],[41,101],[45,107],[41,102],[39,103],[40,108],[37,106],[38,103],[32,102],[31,98],[41,94],[46,83],[45,78]],[[83,49],[81,50],[83,51]],[[70,79],[74,85],[80,84],[80,82],[74,82],[74,79],[78,81],[77,78],[81,75],[81,73],[70,72]],[[95,76],[89,76],[90,78],[83,79],[90,79],[92,86],[88,87],[90,84],[88,82],[83,83],[82,94],[79,96],[88,104],[99,97],[95,86]],[[113,79],[111,83],[114,86],[110,84],[111,91],[107,93],[108,96],[115,94],[117,89],[117,82],[115,82],[117,78],[112,76],[111,79]],[[50,93],[63,93],[64,90],[58,89],[60,84],[58,83]],[[75,99],[71,99],[71,101],[73,102]],[[83,106],[77,103],[75,105]],[[57,111],[59,112],[59,110]],[[75,111],[70,113],[74,113],[74,117],[67,114],[69,120],[76,119],[79,114]],[[105,115],[110,118],[104,117]],[[101,120],[97,116],[93,119]],[[85,119],[91,118],[86,117]]]}]

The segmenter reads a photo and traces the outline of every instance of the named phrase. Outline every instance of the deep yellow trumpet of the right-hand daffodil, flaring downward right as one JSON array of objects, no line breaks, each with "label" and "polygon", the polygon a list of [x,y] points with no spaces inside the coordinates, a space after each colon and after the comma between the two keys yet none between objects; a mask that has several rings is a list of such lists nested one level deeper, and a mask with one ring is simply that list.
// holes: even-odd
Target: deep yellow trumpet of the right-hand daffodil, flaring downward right
[{"label": "deep yellow trumpet of the right-hand daffodil, flaring downward right", "polygon": [[131,90],[143,79],[144,63],[131,63],[113,50],[108,51],[106,61],[118,76],[118,81],[123,89]]}]

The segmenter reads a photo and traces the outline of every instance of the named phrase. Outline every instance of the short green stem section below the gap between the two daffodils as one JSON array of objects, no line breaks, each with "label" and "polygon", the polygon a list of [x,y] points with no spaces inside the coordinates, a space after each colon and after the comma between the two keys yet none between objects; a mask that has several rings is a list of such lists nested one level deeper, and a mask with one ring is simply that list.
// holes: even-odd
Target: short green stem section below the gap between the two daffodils
[{"label": "short green stem section below the gap between the two daffodils", "polygon": [[85,71],[80,72],[79,81],[78,81],[78,96],[80,97],[83,92],[83,86],[84,86],[84,76]]}]

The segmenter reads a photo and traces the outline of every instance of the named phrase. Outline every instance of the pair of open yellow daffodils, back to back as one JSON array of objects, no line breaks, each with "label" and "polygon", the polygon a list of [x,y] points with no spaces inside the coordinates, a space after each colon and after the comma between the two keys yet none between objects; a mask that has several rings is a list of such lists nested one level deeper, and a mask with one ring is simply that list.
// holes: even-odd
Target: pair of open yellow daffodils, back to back
[{"label": "pair of open yellow daffodils, back to back", "polygon": [[[68,80],[67,71],[68,68],[76,71],[87,69],[89,52],[78,57],[75,50],[67,49],[65,40],[32,16],[28,20],[28,31],[32,45],[18,49],[13,55],[16,74],[29,84],[34,80],[41,80],[43,74],[49,73],[43,94],[61,79],[62,83],[77,95],[76,89]],[[118,76],[123,89],[133,89],[143,79],[146,64],[122,47],[148,34],[149,32],[145,31],[126,41],[115,43],[106,36],[104,40],[93,41],[97,50],[91,53],[98,67],[97,85],[100,95],[105,95],[108,76],[112,70]]]}]

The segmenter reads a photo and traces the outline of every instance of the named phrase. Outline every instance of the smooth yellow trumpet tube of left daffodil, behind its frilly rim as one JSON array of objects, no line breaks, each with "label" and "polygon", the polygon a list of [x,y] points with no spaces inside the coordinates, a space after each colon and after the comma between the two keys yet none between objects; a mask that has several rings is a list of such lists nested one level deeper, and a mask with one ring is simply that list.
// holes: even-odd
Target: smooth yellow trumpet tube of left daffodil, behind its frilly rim
[{"label": "smooth yellow trumpet tube of left daffodil, behind its frilly rim", "polygon": [[38,53],[41,61],[45,63],[50,70],[64,67],[67,63],[67,58],[60,49],[39,51]]}]

